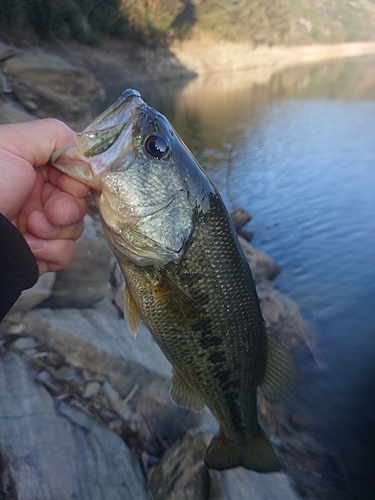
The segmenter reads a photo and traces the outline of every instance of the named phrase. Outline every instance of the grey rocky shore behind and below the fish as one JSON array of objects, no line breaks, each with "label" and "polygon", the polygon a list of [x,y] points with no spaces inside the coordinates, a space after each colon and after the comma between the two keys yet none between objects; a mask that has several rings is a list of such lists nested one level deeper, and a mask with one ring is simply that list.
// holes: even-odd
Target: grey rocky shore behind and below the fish
[{"label": "grey rocky shore behind and below the fish", "polygon": [[[92,102],[104,96],[88,50],[77,49],[74,62],[0,44],[0,122],[54,116],[86,126]],[[91,69],[104,57],[98,54]],[[96,67],[98,76],[104,60]],[[249,239],[246,214],[233,218]],[[293,351],[308,342],[306,325],[272,284],[276,263],[243,236],[268,327]],[[217,423],[208,410],[170,402],[168,361],[145,328],[136,341],[127,331],[123,278],[92,205],[78,248],[66,269],[40,278],[0,325],[0,499],[346,498],[338,465],[293,404],[259,401],[280,473],[209,471],[202,456]]]}]

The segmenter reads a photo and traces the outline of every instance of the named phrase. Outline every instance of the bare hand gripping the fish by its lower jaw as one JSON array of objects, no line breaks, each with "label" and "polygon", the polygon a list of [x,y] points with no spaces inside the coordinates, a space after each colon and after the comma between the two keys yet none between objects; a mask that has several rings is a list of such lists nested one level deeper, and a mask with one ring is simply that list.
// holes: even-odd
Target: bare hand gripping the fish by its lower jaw
[{"label": "bare hand gripping the fish by its lower jaw", "polygon": [[0,212],[25,237],[40,275],[69,264],[83,231],[89,188],[48,165],[73,135],[49,118],[0,125]]}]

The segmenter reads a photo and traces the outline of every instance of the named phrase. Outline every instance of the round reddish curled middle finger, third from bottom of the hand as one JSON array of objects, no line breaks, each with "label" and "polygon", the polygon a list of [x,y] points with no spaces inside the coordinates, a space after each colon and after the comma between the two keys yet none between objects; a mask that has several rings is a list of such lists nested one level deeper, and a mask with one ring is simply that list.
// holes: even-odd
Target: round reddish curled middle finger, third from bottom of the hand
[{"label": "round reddish curled middle finger, third from bottom of the hand", "polygon": [[87,199],[57,191],[46,201],[44,211],[53,226],[68,226],[83,219],[87,211]]}]

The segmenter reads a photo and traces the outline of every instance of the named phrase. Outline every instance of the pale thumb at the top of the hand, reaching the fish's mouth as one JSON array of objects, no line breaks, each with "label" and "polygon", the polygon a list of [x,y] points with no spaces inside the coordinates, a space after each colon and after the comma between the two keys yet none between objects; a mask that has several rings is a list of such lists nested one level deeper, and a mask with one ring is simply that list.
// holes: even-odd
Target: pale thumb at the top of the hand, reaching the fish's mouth
[{"label": "pale thumb at the top of the hand, reaching the fish's mouth", "polygon": [[74,136],[74,131],[54,118],[1,125],[0,146],[31,165],[45,165],[51,154]]}]

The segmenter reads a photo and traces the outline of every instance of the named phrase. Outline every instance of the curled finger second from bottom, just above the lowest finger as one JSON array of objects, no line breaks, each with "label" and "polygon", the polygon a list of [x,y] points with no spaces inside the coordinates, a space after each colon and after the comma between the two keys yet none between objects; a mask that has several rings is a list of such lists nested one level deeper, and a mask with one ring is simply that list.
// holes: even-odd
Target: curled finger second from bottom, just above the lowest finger
[{"label": "curled finger second from bottom, just above the lowest finger", "polygon": [[27,230],[42,240],[76,240],[83,232],[83,221],[79,220],[68,226],[55,226],[49,222],[43,211],[35,210],[27,219]]}]

